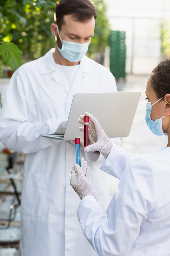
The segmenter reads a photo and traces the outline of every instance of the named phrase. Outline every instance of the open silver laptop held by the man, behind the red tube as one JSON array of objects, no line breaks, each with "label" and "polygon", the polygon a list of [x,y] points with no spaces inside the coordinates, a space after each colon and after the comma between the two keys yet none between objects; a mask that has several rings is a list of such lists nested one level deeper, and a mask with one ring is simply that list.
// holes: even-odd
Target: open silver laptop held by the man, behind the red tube
[{"label": "open silver laptop held by the man, behind the red tube", "polygon": [[93,114],[109,138],[127,137],[130,133],[140,92],[75,93],[64,135],[43,135],[53,139],[84,138],[77,120],[85,111]]}]

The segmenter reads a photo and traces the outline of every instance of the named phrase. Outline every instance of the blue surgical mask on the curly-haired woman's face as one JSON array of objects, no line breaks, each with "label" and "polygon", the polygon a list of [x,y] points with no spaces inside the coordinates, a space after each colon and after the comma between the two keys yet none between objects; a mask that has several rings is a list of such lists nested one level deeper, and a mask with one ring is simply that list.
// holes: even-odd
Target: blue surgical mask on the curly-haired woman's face
[{"label": "blue surgical mask on the curly-haired woman's face", "polygon": [[163,129],[162,129],[162,119],[165,117],[163,116],[162,118],[159,118],[159,119],[156,119],[155,121],[153,121],[151,119],[151,111],[152,111],[152,106],[154,104],[156,104],[157,102],[159,102],[159,100],[163,99],[160,98],[158,99],[155,103],[151,104],[151,102],[147,102],[147,112],[146,112],[146,116],[145,116],[145,120],[147,122],[147,125],[149,127],[149,129],[151,130],[151,132],[155,135],[168,135],[167,133],[164,133],[163,132]]}]

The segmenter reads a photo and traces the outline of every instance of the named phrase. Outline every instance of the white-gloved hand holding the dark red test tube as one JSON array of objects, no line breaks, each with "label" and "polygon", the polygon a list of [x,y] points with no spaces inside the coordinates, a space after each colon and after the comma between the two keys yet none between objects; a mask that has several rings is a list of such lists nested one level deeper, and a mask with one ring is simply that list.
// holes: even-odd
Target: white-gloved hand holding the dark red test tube
[{"label": "white-gloved hand holding the dark red test tube", "polygon": [[[89,134],[91,135],[92,139],[94,140],[94,144],[87,146],[84,151],[99,151],[103,154],[105,158],[107,158],[108,154],[110,153],[113,143],[107,137],[105,132],[103,131],[102,127],[100,126],[99,121],[90,113],[85,112],[85,115],[89,117]],[[78,119],[78,122],[84,124],[83,121],[84,116],[81,115]],[[83,127],[79,127],[79,130],[84,132]]]}]

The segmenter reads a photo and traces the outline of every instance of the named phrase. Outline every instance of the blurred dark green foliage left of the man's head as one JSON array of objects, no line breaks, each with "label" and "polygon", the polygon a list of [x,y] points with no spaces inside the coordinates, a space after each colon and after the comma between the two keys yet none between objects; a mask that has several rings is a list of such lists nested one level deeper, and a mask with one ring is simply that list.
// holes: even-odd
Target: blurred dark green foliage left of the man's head
[{"label": "blurred dark green foliage left of the man's head", "polygon": [[55,1],[7,0],[0,5],[0,34],[11,33],[12,42],[27,60],[43,56],[55,45],[50,31]]}]

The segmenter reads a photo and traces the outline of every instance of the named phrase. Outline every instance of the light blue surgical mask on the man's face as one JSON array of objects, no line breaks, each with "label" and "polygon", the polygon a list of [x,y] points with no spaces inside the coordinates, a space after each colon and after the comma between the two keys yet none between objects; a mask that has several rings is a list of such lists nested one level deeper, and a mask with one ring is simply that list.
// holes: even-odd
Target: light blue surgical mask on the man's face
[{"label": "light blue surgical mask on the man's face", "polygon": [[58,51],[63,56],[63,58],[69,60],[70,62],[80,61],[88,51],[88,46],[90,44],[90,41],[87,43],[75,43],[75,42],[65,41],[61,39],[58,26],[57,26],[57,32],[63,44],[62,44],[62,49],[58,47],[57,42],[56,42],[56,46]]}]

